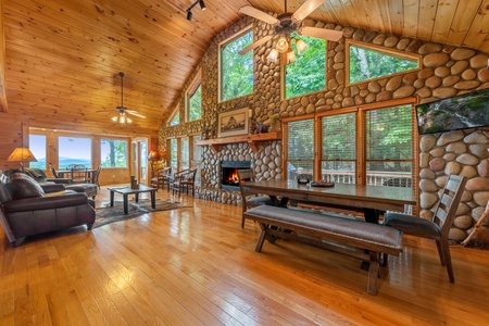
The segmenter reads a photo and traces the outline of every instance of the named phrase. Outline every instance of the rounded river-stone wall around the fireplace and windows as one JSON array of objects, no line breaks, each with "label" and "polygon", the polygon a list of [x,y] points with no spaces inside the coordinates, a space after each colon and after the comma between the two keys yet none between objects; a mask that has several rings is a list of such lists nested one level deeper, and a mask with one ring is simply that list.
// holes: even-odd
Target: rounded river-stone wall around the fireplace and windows
[{"label": "rounded river-stone wall around the fireplace and windows", "polygon": [[[294,117],[410,97],[417,97],[419,102],[424,103],[476,89],[489,88],[488,53],[306,20],[303,24],[308,26],[343,32],[344,38],[339,42],[328,42],[326,90],[288,100],[280,99],[280,66],[266,61],[266,55],[278,38],[278,36],[274,36],[271,41],[254,51],[253,93],[220,103],[217,100],[218,43],[250,23],[252,23],[252,20],[244,17],[217,35],[210,45],[201,64],[196,68],[196,72],[198,68],[202,68],[203,74],[202,122],[183,124],[177,127],[162,126],[160,130],[161,143],[164,143],[164,139],[167,137],[193,133],[196,126],[205,130],[205,134],[213,138],[215,137],[217,113],[238,108],[248,106],[252,109],[253,121],[269,125],[269,118],[275,114],[278,114],[281,118]],[[271,26],[265,23],[253,22],[253,30],[258,38],[273,33]],[[423,68],[416,72],[348,85],[346,82],[347,39],[419,55]],[[189,76],[188,80],[192,78],[193,76]],[[179,100],[180,116],[185,116],[184,99],[185,95],[183,93]],[[424,217],[430,215],[429,211],[437,202],[437,192],[442,189],[449,173],[456,173],[457,171],[469,178],[463,205],[457,213],[457,215],[465,217],[457,217],[455,224],[457,227],[453,230],[453,237],[456,239],[467,234],[474,221],[477,220],[477,216],[480,216],[480,211],[488,200],[489,175],[487,174],[487,165],[489,163],[487,161],[489,160],[489,153],[487,150],[484,151],[484,148],[487,149],[489,143],[488,133],[489,128],[484,128],[421,138],[419,192]],[[452,139],[452,137],[456,140],[446,142],[447,138]],[[428,146],[428,143],[431,143],[431,146]],[[236,143],[222,147],[217,153],[214,153],[209,147],[204,148],[202,191],[211,191],[213,195],[202,195],[222,202],[235,203],[239,201],[239,198],[236,200],[229,199],[229,196],[224,196],[223,191],[217,189],[217,162],[225,156],[242,156],[251,160],[259,178],[280,178],[283,176],[280,147],[280,141],[265,142],[260,146],[256,152],[252,152],[246,143]],[[271,164],[271,162],[273,163]],[[477,172],[477,174],[474,172]],[[228,200],[224,201],[223,196]],[[467,216],[471,216],[472,221],[468,221]]]}]

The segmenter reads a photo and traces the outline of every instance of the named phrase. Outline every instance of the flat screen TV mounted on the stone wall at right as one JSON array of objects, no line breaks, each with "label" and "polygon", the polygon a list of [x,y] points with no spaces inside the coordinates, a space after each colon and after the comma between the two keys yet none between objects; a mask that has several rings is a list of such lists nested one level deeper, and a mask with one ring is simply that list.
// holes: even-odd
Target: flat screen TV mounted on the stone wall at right
[{"label": "flat screen TV mounted on the stone wall at right", "polygon": [[489,126],[489,88],[416,105],[421,135]]}]

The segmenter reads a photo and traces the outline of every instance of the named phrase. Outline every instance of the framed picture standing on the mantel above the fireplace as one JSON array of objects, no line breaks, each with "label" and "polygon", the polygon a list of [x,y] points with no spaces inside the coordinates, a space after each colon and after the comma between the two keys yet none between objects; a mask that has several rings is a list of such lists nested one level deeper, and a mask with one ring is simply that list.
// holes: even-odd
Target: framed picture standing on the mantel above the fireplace
[{"label": "framed picture standing on the mantel above the fireplace", "polygon": [[248,108],[218,113],[217,137],[248,135],[249,123]]}]

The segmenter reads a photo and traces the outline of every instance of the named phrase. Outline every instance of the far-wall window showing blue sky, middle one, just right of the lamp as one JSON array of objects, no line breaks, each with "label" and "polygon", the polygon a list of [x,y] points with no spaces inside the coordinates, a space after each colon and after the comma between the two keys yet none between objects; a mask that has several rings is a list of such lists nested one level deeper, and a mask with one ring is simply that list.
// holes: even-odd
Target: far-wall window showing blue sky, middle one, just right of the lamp
[{"label": "far-wall window showing blue sky, middle one, just right of the lamp", "polygon": [[82,137],[58,138],[58,167],[67,168],[68,165],[85,165],[91,167],[91,139]]}]

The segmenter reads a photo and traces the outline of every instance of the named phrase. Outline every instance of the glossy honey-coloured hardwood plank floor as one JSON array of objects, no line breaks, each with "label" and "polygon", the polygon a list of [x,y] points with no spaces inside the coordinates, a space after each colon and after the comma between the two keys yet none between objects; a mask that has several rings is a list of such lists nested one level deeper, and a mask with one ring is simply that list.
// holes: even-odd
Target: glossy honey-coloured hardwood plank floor
[{"label": "glossy honey-coloured hardwood plank floor", "polygon": [[[97,204],[106,202],[105,188]],[[286,241],[256,253],[260,228],[240,228],[240,208],[181,202],[190,208],[18,248],[1,230],[0,325],[488,323],[489,251],[453,246],[450,284],[435,244],[405,238],[374,297],[356,259]]]}]

